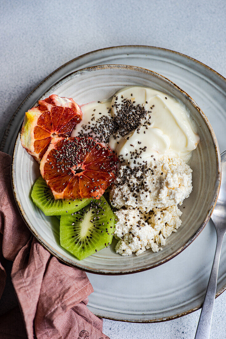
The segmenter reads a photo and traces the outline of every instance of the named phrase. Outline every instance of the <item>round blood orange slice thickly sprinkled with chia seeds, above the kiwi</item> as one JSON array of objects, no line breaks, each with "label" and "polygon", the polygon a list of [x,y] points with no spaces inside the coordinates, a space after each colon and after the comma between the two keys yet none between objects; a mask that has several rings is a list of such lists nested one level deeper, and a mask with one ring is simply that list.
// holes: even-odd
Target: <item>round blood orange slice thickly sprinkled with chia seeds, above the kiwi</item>
[{"label": "round blood orange slice thickly sprinkled with chia seeds, above the kiwi", "polygon": [[40,171],[55,199],[99,199],[114,181],[117,158],[90,137],[52,139]]}]

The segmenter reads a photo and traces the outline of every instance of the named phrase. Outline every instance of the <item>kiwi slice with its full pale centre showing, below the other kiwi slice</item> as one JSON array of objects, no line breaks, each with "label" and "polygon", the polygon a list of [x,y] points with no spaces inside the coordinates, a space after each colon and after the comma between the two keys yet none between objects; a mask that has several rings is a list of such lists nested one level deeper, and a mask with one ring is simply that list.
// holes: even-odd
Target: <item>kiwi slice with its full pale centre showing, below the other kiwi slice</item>
[{"label": "kiwi slice with its full pale centre showing, below the other kiwi slice", "polygon": [[60,218],[60,245],[82,260],[112,242],[114,214],[102,196],[73,215]]}]

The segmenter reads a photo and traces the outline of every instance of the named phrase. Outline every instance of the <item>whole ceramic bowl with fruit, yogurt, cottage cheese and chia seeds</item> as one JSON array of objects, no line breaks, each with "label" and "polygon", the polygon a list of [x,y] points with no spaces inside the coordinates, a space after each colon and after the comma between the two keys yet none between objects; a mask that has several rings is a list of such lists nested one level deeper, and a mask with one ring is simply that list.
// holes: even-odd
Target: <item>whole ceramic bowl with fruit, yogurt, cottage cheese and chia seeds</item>
[{"label": "whole ceramic bowl with fruit, yogurt, cottage cheese and chia seeds", "polygon": [[205,227],[220,188],[219,146],[202,110],[169,79],[136,66],[84,68],[24,114],[15,200],[59,260],[99,274],[144,271]]}]

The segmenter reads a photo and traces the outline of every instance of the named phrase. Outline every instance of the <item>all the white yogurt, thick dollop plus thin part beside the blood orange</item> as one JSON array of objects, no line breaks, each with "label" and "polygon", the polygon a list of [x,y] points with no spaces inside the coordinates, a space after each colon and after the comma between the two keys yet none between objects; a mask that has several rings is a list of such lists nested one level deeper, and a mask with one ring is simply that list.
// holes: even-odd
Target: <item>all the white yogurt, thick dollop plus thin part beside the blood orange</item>
[{"label": "all the white yogurt, thick dollop plus thin part beside the blood orange", "polygon": [[[117,156],[123,157],[125,163],[132,167],[142,164],[151,156],[156,159],[163,156],[180,157],[188,162],[191,152],[199,142],[199,136],[189,121],[189,112],[182,102],[152,88],[126,87],[117,92],[112,99],[81,106],[82,121],[76,125],[71,136],[79,135],[82,125],[95,125],[102,116],[117,116],[115,103],[120,109],[126,98],[135,101],[134,105],[144,106],[149,112],[147,119],[150,125],[143,119],[142,125],[125,137],[119,133],[112,135],[108,146]],[[111,114],[108,113],[110,108]],[[96,135],[92,136],[98,138]],[[136,153],[142,151],[138,157],[137,154],[132,154],[135,150]]]}]

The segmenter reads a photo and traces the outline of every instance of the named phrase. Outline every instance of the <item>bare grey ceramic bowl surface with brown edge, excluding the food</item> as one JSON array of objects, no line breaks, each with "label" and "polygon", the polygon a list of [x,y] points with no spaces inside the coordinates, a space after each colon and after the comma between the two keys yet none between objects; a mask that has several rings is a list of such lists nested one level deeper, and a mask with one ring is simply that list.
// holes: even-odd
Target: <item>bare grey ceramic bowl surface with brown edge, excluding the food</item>
[{"label": "bare grey ceramic bowl surface with brown edge, excluding the food", "polygon": [[[20,132],[12,157],[12,185],[20,213],[38,241],[63,262],[99,274],[127,274],[148,270],[183,251],[205,227],[215,206],[221,181],[219,146],[213,129],[194,100],[167,78],[148,69],[128,65],[101,65],[84,68],[58,81],[41,98],[51,94],[73,98],[79,105],[111,97],[124,86],[152,87],[181,100],[190,112],[190,120],[200,136],[192,153],[193,191],[182,205],[182,225],[167,239],[163,250],[147,250],[139,256],[122,257],[114,250],[116,240],[82,261],[64,250],[59,242],[59,221],[46,217],[32,202],[32,185],[40,175],[37,162],[22,148]],[[25,112],[24,112],[25,113]],[[185,207],[185,208],[183,208]]]}]

